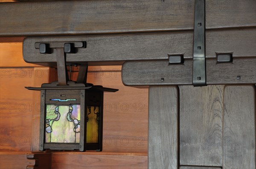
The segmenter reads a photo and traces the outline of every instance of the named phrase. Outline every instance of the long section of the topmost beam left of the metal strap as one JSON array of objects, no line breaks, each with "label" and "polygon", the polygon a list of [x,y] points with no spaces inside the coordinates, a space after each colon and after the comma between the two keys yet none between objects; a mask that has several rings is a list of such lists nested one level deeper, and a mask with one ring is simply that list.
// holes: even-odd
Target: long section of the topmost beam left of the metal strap
[{"label": "long section of the topmost beam left of the metal strap", "polygon": [[170,0],[1,3],[0,36],[192,30],[193,5],[180,8]]}]

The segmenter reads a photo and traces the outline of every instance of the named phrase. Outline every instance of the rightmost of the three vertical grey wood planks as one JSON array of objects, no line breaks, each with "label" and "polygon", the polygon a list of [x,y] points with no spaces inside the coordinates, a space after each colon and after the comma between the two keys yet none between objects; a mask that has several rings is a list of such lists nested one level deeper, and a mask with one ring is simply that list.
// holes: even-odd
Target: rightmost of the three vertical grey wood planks
[{"label": "rightmost of the three vertical grey wood planks", "polygon": [[224,89],[224,169],[255,169],[256,87]]}]

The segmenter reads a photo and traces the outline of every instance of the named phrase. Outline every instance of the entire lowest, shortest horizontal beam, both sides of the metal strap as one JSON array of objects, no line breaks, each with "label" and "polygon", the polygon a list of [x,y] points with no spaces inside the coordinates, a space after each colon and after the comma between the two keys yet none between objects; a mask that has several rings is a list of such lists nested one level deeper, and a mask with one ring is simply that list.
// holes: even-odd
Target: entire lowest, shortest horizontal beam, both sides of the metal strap
[{"label": "entire lowest, shortest horizontal beam, both sides of the metal strap", "polygon": [[[169,60],[126,61],[122,65],[122,82],[127,86],[192,85],[192,59],[169,65]],[[256,57],[234,58],[233,62],[217,63],[206,59],[207,85],[256,84]],[[250,70],[250,71],[248,71]]]}]

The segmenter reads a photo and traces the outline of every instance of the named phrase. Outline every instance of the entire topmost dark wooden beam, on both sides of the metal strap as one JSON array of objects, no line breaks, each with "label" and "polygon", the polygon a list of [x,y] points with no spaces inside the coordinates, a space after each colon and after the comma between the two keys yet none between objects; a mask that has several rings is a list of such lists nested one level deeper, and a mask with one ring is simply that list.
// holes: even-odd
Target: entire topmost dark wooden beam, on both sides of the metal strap
[{"label": "entire topmost dark wooden beam, on both sides of the metal strap", "polygon": [[[206,0],[206,28],[256,26],[255,0]],[[239,6],[239,8],[238,8]],[[192,30],[194,0],[58,0],[0,4],[0,36]]]}]

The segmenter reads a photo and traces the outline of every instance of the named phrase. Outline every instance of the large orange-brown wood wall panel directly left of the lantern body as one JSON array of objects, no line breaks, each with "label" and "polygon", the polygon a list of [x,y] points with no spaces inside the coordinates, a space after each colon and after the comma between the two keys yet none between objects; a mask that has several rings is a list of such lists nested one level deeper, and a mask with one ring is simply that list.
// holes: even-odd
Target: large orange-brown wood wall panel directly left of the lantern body
[{"label": "large orange-brown wood wall panel directly left of the lantern body", "polygon": [[32,122],[40,111],[40,93],[25,86],[49,82],[49,70],[48,67],[0,68],[1,151],[29,152],[31,146],[38,146],[38,123],[32,128]]}]

